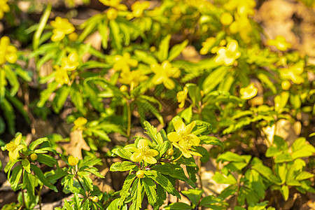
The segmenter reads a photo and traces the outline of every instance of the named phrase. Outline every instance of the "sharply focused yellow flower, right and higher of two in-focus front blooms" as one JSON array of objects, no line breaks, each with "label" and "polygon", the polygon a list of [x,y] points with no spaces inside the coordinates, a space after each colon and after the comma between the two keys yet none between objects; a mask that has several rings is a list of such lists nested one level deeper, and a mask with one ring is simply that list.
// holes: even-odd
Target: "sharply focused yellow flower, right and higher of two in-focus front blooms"
[{"label": "sharply focused yellow flower, right and higher of two in-focus front blooms", "polygon": [[192,146],[198,146],[200,144],[200,139],[195,134],[191,134],[194,127],[195,122],[186,126],[183,121],[178,120],[174,123],[176,132],[167,134],[169,141],[172,141],[172,144],[176,148],[179,148],[185,158],[190,158],[192,155],[202,156],[200,153],[190,151]]}]

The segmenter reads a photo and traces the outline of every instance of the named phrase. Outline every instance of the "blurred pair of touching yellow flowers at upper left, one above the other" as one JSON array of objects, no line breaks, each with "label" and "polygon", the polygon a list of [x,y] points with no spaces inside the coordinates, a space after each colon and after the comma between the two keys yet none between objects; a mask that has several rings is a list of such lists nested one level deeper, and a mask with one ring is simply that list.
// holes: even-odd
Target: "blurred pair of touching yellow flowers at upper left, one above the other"
[{"label": "blurred pair of touching yellow flowers at upper left, one above the other", "polygon": [[54,65],[56,70],[55,80],[60,85],[69,83],[68,71],[74,71],[78,67],[78,54],[76,52],[71,52],[68,57],[62,58],[62,65]]}]

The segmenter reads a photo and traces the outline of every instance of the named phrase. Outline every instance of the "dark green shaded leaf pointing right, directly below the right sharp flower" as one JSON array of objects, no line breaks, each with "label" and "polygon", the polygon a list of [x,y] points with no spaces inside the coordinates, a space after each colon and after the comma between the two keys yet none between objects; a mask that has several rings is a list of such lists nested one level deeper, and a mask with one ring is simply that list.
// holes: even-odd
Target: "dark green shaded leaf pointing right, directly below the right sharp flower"
[{"label": "dark green shaded leaf pointing right, directly below the right sharp flower", "polygon": [[151,169],[156,170],[161,174],[172,176],[175,179],[186,181],[190,186],[195,188],[195,183],[186,177],[185,172],[183,172],[183,168],[179,165],[166,163],[165,165],[154,165]]}]

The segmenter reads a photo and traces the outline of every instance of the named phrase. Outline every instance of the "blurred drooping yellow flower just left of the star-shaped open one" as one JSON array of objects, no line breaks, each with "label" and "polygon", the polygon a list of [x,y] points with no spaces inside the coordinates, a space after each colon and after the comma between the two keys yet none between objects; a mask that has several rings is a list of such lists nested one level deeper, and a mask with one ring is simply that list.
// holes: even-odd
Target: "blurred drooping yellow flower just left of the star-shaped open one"
[{"label": "blurred drooping yellow flower just left of the star-shaped open one", "polygon": [[148,76],[144,75],[140,70],[136,71],[123,71],[120,73],[118,81],[125,85],[130,85],[130,90],[134,90],[140,82],[147,80]]}]

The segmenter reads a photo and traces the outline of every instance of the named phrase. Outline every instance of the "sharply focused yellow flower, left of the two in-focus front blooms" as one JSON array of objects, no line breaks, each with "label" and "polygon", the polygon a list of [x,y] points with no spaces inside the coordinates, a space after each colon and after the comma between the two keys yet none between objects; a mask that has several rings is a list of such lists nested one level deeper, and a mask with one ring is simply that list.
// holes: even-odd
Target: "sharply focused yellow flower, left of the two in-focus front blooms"
[{"label": "sharply focused yellow flower, left of the two in-focus front blooms", "polygon": [[155,164],[157,162],[153,157],[158,155],[159,152],[149,148],[148,141],[145,139],[140,139],[137,148],[133,148],[133,150],[135,153],[130,157],[130,160],[133,162],[140,162],[141,160],[144,160],[144,162],[148,162],[149,164]]}]

